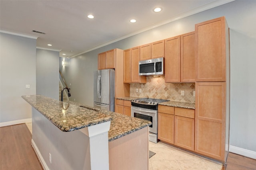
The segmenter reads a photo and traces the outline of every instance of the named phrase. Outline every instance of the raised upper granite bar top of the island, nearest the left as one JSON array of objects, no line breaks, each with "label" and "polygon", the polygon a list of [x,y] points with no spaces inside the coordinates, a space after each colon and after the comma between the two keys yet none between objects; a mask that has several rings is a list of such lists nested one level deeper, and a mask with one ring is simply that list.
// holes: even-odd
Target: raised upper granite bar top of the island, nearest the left
[{"label": "raised upper granite bar top of the island, nearest the left", "polygon": [[61,131],[68,132],[112,120],[109,115],[41,95],[22,96]]}]

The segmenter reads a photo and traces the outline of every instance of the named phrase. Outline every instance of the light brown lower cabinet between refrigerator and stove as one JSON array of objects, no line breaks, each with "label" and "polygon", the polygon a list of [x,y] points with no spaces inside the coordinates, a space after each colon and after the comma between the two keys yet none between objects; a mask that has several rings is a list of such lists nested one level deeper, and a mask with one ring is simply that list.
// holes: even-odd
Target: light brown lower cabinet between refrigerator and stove
[{"label": "light brown lower cabinet between refrigerator and stove", "polygon": [[115,112],[131,116],[131,106],[132,104],[130,101],[116,99]]}]

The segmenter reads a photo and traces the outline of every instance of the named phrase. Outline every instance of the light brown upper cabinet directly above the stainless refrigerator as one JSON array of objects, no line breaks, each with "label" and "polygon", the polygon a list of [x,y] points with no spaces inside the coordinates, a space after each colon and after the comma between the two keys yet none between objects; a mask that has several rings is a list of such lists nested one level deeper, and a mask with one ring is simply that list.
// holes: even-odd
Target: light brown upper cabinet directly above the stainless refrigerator
[{"label": "light brown upper cabinet directly above the stainless refrigerator", "polygon": [[115,68],[114,49],[98,54],[98,70]]}]

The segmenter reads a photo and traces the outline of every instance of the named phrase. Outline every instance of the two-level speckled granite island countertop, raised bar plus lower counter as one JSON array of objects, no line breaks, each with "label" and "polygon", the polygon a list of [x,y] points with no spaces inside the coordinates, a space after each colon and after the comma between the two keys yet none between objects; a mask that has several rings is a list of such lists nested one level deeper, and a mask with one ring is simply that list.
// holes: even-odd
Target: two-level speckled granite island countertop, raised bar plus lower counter
[{"label": "two-level speckled granite island countertop, raised bar plus lower counter", "polygon": [[[110,131],[108,131],[109,142],[151,125],[150,121],[77,102],[66,103],[41,95],[22,96],[22,98],[62,131],[74,131],[111,121]],[[68,108],[63,109],[63,106]]]}]

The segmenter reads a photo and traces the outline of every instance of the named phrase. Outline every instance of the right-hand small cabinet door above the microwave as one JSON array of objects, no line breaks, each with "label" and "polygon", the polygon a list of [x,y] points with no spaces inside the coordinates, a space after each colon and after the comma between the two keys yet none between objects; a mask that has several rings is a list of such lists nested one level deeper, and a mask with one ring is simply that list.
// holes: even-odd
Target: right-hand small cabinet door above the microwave
[{"label": "right-hand small cabinet door above the microwave", "polygon": [[151,58],[156,59],[161,57],[164,57],[164,40],[151,43]]}]

